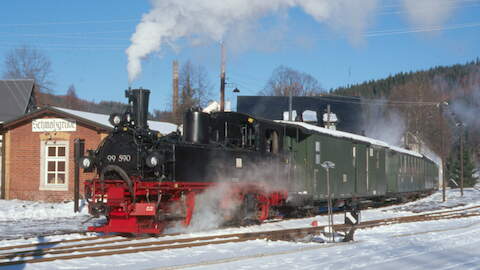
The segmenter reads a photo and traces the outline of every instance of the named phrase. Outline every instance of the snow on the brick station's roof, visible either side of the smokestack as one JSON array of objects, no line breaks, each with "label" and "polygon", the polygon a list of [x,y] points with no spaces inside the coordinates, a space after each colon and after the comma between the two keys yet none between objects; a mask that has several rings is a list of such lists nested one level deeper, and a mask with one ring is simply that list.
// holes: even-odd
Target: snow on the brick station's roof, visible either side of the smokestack
[{"label": "snow on the brick station's roof, visible either side of the smokestack", "polygon": [[[84,112],[84,111],[77,111],[77,110],[71,110],[71,109],[65,109],[65,108],[60,108],[60,107],[53,107],[54,109],[64,111],[69,114],[76,115],[78,117],[90,120],[92,122],[97,122],[101,125],[108,126],[108,127],[113,127],[110,124],[110,121],[108,121],[108,118],[110,117],[109,115],[106,114],[99,114],[99,113],[91,113],[91,112]],[[148,121],[148,126],[152,130],[156,130],[162,134],[168,134],[173,131],[177,130],[177,125],[172,124],[172,123],[167,123],[167,122],[160,122],[160,121]]]}]

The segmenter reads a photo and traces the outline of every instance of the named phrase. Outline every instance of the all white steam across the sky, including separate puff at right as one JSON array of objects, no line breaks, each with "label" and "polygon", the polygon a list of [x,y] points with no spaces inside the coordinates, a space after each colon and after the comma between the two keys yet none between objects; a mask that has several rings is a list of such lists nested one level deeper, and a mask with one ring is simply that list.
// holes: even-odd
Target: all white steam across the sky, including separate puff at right
[{"label": "all white steam across the sky, including separate puff at right", "polygon": [[[409,21],[422,27],[443,23],[458,5],[452,0],[402,1],[399,7],[406,10]],[[346,33],[351,42],[359,43],[375,11],[382,8],[380,0],[151,0],[151,3],[152,9],[143,15],[126,50],[130,83],[141,73],[143,59],[160,52],[165,45],[178,49],[179,40],[193,46],[233,40],[233,46],[240,48],[246,47],[245,43],[258,46],[262,42],[269,43],[265,47],[272,47],[279,43],[278,32],[285,32],[284,25],[281,20],[275,21],[276,27],[258,34],[257,22],[297,8],[317,22]]]}]

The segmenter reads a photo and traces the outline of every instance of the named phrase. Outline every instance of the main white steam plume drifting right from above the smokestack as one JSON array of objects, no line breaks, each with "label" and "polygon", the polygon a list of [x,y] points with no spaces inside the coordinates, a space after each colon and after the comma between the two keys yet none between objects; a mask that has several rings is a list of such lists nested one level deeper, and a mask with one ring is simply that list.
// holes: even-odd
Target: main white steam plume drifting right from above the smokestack
[{"label": "main white steam plume drifting right from above the smokestack", "polygon": [[[142,17],[127,49],[130,83],[141,73],[141,61],[163,46],[188,38],[192,45],[220,42],[227,34],[255,31],[255,22],[291,8],[301,8],[318,22],[346,31],[352,40],[361,38],[378,0],[153,0],[152,10]],[[235,43],[242,42],[235,40]]]}]

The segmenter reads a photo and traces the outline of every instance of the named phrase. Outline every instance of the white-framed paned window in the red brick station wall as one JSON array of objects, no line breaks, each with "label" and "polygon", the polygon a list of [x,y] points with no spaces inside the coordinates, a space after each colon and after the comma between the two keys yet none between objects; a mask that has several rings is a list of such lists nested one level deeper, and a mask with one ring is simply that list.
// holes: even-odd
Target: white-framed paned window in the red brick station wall
[{"label": "white-framed paned window in the red brick station wall", "polygon": [[41,190],[68,190],[68,141],[46,141],[41,147]]}]

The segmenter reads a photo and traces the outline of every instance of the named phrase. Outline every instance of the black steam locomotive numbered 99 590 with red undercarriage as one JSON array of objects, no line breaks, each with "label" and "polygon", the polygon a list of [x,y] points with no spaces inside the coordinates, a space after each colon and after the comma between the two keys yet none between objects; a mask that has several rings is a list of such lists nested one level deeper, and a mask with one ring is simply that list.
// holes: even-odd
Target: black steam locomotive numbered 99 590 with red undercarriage
[{"label": "black steam locomotive numbered 99 590 with red undercarriage", "polygon": [[[128,110],[110,116],[113,131],[81,160],[86,172],[98,173],[85,185],[90,213],[108,218],[91,230],[160,233],[172,220],[188,225],[195,196],[220,183],[227,183],[228,191],[218,196],[219,204],[242,206],[236,218],[264,220],[284,204],[286,190],[267,188],[272,183],[265,181],[286,175],[281,125],[232,112],[189,110],[183,135],[161,136],[147,125],[149,91],[127,90],[126,97]],[[270,137],[258,136],[266,131]]]}]

